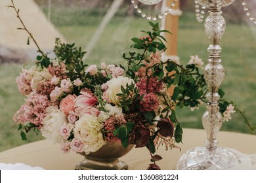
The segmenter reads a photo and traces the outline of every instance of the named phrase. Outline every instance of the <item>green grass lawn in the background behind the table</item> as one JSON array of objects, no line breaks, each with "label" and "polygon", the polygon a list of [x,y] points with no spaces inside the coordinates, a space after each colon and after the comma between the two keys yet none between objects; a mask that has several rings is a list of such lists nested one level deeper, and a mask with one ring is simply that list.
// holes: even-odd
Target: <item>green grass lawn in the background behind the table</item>
[{"label": "green grass lawn in the background behind the table", "polygon": [[[93,33],[96,31],[104,13],[83,14],[82,10],[53,11],[52,21],[68,42],[76,42],[77,46],[86,48]],[[65,13],[65,16],[62,16]],[[54,14],[56,16],[54,16]],[[62,18],[62,19],[61,19]],[[106,26],[104,33],[96,43],[95,49],[86,62],[88,64],[124,63],[120,54],[129,52],[131,38],[140,37],[140,30],[149,29],[146,20],[139,17],[115,16]],[[196,22],[194,14],[184,14],[179,25],[179,57],[181,63],[186,64],[191,54],[198,54],[207,63],[207,47],[209,41],[203,30],[203,24]],[[246,25],[230,25],[221,40],[223,52],[221,54],[223,66],[226,70],[222,88],[226,92],[226,99],[236,101],[248,118],[254,120],[256,107],[256,41],[253,40],[251,29]],[[86,51],[86,50],[85,50]],[[29,135],[29,141],[23,142],[12,116],[23,103],[24,97],[18,93],[15,78],[22,69],[21,64],[0,65],[0,152],[26,142],[42,139],[40,135]],[[182,127],[202,128],[202,115],[205,105],[194,112],[190,108],[177,108],[177,116]],[[243,119],[234,114],[230,122],[225,122],[221,130],[250,133]],[[203,138],[203,137],[202,137]]]}]

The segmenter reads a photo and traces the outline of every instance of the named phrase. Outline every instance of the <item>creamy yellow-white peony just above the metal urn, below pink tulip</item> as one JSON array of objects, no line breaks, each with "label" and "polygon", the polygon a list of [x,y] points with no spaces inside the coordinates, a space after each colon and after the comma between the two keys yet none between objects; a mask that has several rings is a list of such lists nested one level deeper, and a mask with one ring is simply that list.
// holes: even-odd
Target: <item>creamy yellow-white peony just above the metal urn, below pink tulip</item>
[{"label": "creamy yellow-white peony just above the metal urn, below pink tulip", "polygon": [[101,133],[102,128],[102,122],[90,114],[83,115],[75,122],[74,135],[83,142],[85,154],[96,152],[106,143]]}]

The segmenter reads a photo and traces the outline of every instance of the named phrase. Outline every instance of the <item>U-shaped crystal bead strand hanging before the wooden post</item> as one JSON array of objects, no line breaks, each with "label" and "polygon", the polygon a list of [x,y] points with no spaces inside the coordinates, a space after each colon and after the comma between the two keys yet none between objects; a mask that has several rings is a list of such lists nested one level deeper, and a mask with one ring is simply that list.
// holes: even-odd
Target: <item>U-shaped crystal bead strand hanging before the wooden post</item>
[{"label": "U-shaped crystal bead strand hanging before the wooden post", "polygon": [[177,1],[178,0],[173,0],[173,3],[171,3],[171,6],[167,7],[165,12],[158,14],[157,16],[151,16],[149,14],[142,12],[142,10],[138,7],[137,3],[135,3],[134,0],[131,0],[131,3],[133,4],[133,7],[137,10],[137,12],[142,16],[142,18],[146,18],[147,20],[158,20],[158,19],[162,19],[163,16],[171,12],[171,10],[173,10],[173,7],[175,7]]}]

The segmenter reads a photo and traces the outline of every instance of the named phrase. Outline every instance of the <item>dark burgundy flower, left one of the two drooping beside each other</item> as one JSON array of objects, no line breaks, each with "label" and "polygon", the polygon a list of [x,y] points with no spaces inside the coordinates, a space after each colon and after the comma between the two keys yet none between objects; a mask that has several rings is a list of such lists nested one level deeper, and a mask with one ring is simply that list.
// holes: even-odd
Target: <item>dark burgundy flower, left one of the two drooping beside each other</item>
[{"label": "dark burgundy flower, left one of the two drooping beside each other", "polygon": [[135,144],[136,148],[142,148],[148,144],[150,138],[150,131],[144,127],[140,126],[135,129]]}]

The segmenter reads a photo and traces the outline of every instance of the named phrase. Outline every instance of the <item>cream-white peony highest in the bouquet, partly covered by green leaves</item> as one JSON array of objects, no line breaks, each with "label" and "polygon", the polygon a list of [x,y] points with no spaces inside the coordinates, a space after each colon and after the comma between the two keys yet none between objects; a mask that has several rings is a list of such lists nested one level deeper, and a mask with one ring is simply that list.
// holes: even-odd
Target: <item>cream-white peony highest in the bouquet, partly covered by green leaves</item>
[{"label": "cream-white peony highest in the bouquet, partly covered by green leaves", "polygon": [[107,101],[110,103],[114,103],[115,105],[118,105],[119,103],[119,97],[116,95],[117,93],[121,93],[121,86],[123,88],[126,88],[126,84],[131,85],[132,83],[135,83],[133,79],[118,76],[117,78],[112,78],[108,82],[106,82],[106,86],[108,89],[106,90],[106,95],[104,96]]}]

